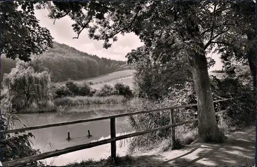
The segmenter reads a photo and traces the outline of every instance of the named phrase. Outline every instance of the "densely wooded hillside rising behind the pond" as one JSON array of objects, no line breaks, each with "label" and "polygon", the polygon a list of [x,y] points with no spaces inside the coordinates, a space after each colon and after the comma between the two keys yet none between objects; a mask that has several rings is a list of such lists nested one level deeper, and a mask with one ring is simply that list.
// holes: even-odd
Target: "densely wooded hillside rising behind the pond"
[{"label": "densely wooded hillside rising behind the pond", "polygon": [[[69,79],[80,80],[133,69],[132,66],[127,66],[125,61],[100,58],[97,55],[84,53],[57,42],[53,43],[53,48],[49,48],[48,51],[39,56],[39,60],[42,61],[44,66],[44,69],[39,69],[39,71],[48,71],[51,74],[52,82]],[[10,73],[11,69],[16,66],[16,61],[2,55],[1,65],[1,80],[3,80],[3,74]]]}]

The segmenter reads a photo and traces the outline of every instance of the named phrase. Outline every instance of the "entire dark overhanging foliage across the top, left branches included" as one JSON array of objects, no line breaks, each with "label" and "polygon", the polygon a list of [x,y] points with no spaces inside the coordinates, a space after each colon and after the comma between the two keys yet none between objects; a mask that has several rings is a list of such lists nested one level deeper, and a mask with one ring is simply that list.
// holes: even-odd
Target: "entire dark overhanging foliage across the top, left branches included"
[{"label": "entire dark overhanging foliage across the top, left branches included", "polygon": [[[235,11],[246,4],[255,6],[253,2],[225,1],[5,2],[0,4],[5,30],[1,48],[7,57],[27,61],[30,54],[40,54],[52,45],[49,31],[33,16],[35,6],[47,9],[54,22],[69,16],[75,21],[71,25],[77,33],[74,38],[87,29],[89,38],[104,40],[104,48],[118,40],[117,34],[134,32],[154,59],[165,62],[172,55],[211,52],[222,39],[242,34],[242,28],[249,27],[242,24],[248,13]],[[17,10],[19,5],[22,10]]]}]

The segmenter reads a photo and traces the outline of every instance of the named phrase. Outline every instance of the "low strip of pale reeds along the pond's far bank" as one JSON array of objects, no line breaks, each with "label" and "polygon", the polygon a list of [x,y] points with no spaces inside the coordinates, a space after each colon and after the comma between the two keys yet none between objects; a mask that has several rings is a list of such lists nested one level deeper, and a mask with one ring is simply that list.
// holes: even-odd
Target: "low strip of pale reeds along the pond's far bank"
[{"label": "low strip of pale reeds along the pond's far bank", "polygon": [[110,104],[115,105],[119,103],[125,103],[127,99],[124,96],[107,96],[107,97],[87,97],[87,96],[75,96],[75,97],[63,97],[57,98],[53,101],[56,106],[86,106],[86,105],[101,105]]}]

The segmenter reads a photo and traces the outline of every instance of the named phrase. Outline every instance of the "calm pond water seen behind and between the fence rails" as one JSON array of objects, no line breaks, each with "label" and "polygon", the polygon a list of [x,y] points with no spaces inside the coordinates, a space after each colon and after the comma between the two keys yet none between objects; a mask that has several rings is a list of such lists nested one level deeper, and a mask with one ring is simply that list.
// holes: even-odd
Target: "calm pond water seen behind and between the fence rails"
[{"label": "calm pond water seen behind and between the fence rails", "polygon": [[[58,114],[58,113],[33,113],[33,114],[19,114],[22,122],[27,126],[37,126],[41,124],[57,123],[64,121],[73,121],[79,119],[95,118],[107,115],[121,114],[122,111],[106,111],[103,112],[82,112],[82,109],[78,112]],[[22,123],[17,123],[15,128],[22,128]],[[83,137],[87,135],[87,130],[90,131],[92,137]],[[67,147],[72,147],[79,144],[85,144],[90,141],[97,141],[106,138],[110,138],[110,122],[109,119],[70,124],[67,126],[45,128],[39,130],[27,131],[31,132],[35,139],[32,138],[33,148],[40,149],[42,153],[60,150]],[[70,133],[71,140],[66,140],[68,132]],[[116,136],[120,136],[126,133],[132,132],[132,128],[128,126],[127,117],[116,118]],[[73,139],[72,139],[73,138]],[[126,154],[127,141],[121,141],[122,147],[120,147],[120,141],[116,141],[117,154],[120,156]],[[125,142],[125,143],[124,143]],[[63,154],[57,157],[47,158],[44,161],[48,165],[65,165],[69,162],[81,161],[82,159],[94,159],[99,160],[111,155],[110,152],[111,143],[99,145],[98,147],[71,152]]]}]

